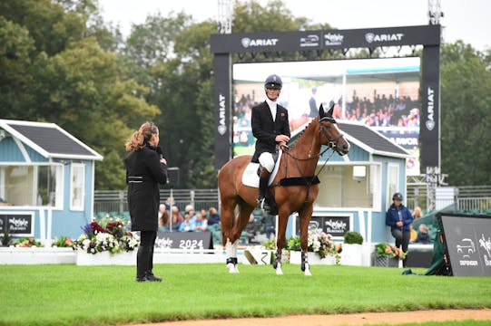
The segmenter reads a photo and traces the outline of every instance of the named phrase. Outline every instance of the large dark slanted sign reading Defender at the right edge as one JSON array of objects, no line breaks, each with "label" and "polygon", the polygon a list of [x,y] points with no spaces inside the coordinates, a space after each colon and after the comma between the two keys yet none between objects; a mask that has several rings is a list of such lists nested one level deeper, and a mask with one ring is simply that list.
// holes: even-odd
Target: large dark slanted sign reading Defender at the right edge
[{"label": "large dark slanted sign reading Defender at the right edge", "polygon": [[491,276],[491,216],[438,214],[452,274]]}]

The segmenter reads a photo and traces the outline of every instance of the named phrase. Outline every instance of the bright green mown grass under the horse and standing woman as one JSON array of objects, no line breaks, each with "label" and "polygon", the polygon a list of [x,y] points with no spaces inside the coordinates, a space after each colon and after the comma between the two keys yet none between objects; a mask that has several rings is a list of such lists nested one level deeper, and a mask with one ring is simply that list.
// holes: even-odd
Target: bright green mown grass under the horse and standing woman
[{"label": "bright green mown grass under the horse and standing woman", "polygon": [[[491,278],[405,276],[401,269],[286,264],[157,264],[162,283],[133,266],[0,265],[0,324],[108,325],[310,313],[491,308]],[[419,270],[416,272],[422,272]]]}]

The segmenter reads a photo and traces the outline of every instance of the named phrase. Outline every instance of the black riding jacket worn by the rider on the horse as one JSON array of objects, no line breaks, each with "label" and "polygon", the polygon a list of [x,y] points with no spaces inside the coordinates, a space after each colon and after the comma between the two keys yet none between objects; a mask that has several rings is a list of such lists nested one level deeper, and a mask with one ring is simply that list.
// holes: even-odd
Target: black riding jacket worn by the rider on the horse
[{"label": "black riding jacket worn by the rider on the horse", "polygon": [[276,150],[276,136],[286,135],[290,137],[290,125],[288,110],[277,105],[276,119],[273,121],[270,107],[266,101],[252,108],[252,134],[256,140],[256,151],[252,162],[258,163],[258,158],[263,152],[273,153]]}]

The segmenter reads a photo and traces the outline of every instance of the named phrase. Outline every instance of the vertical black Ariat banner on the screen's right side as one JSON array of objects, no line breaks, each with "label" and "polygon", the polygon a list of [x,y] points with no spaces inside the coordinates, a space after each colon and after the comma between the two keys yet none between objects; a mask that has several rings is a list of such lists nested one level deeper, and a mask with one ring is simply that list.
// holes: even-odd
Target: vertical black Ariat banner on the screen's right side
[{"label": "vertical black Ariat banner on the screen's right side", "polygon": [[440,47],[423,49],[419,140],[422,172],[440,166]]}]

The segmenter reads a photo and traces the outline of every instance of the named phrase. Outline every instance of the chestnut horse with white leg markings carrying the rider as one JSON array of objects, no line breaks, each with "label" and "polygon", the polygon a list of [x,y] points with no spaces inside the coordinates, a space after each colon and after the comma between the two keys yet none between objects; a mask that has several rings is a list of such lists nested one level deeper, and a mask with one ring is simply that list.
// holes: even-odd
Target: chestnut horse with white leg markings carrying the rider
[{"label": "chestnut horse with white leg markings carrying the rider", "polygon": [[[270,187],[271,195],[278,206],[277,254],[273,267],[277,274],[281,271],[281,249],[286,245],[286,228],[289,216],[298,212],[300,216],[300,246],[302,250],[301,270],[310,275],[307,260],[307,237],[313,203],[319,193],[319,185],[311,184],[320,152],[320,146],[327,146],[339,155],[346,155],[349,143],[339,131],[336,120],[332,118],[332,108],[326,113],[319,108],[319,117],[310,121],[299,138],[289,149],[283,148],[280,168]],[[242,174],[250,163],[250,156],[231,159],[218,174],[221,197],[221,236],[227,253],[227,268],[230,273],[239,273],[237,268],[237,246],[242,230],[249,222],[250,213],[256,206],[258,188],[244,186]],[[304,181],[301,186],[280,186],[280,179],[296,177]],[[235,215],[237,208],[238,216]]]}]

